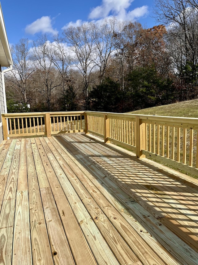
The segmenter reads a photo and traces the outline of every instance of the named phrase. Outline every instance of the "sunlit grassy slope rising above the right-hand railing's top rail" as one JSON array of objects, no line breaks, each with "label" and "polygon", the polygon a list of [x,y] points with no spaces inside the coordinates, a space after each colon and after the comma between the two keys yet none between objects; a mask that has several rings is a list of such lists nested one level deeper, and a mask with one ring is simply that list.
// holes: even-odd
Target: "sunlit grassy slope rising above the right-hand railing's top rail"
[{"label": "sunlit grassy slope rising above the right-hand railing's top rail", "polygon": [[128,112],[132,114],[198,118],[198,99]]}]

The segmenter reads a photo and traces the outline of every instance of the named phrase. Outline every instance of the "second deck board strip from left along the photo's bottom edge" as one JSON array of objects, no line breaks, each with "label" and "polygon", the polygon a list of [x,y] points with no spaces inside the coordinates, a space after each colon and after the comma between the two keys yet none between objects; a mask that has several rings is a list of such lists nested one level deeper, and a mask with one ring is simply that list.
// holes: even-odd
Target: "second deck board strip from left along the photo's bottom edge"
[{"label": "second deck board strip from left along the photo's bottom edge", "polygon": [[14,223],[12,264],[32,264],[25,139],[21,139]]}]

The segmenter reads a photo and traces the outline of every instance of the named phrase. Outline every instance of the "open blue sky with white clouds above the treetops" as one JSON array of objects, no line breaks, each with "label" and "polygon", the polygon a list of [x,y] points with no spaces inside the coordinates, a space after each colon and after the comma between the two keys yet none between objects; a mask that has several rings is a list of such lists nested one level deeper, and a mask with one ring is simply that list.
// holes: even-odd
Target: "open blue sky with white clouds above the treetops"
[{"label": "open blue sky with white clouds above the treetops", "polygon": [[152,18],[153,1],[145,0],[2,0],[2,11],[8,40],[15,44],[21,38],[36,39],[52,35],[68,25],[83,21],[100,21],[116,16],[120,20],[136,20],[142,25],[156,25]]}]

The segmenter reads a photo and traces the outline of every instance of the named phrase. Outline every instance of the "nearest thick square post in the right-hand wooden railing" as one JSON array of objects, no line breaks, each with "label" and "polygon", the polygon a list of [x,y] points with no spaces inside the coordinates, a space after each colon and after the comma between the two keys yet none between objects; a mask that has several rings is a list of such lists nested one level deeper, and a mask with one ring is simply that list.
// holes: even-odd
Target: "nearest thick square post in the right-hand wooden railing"
[{"label": "nearest thick square post in the right-hand wooden railing", "polygon": [[141,117],[136,116],[136,157],[137,158],[145,158],[145,155],[142,154],[142,150],[145,150],[146,142],[145,142],[146,130],[145,126],[142,123]]}]

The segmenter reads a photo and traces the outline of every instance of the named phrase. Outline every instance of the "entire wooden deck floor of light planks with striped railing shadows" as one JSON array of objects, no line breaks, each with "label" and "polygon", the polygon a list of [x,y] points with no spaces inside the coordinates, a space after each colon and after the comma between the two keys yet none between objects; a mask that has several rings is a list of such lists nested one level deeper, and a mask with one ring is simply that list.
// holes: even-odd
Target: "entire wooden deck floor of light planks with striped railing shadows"
[{"label": "entire wooden deck floor of light planks with striped railing shadows", "polygon": [[0,265],[198,264],[198,181],[84,134],[0,145]]}]

